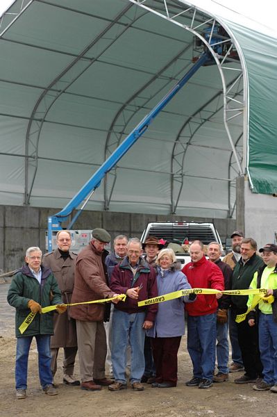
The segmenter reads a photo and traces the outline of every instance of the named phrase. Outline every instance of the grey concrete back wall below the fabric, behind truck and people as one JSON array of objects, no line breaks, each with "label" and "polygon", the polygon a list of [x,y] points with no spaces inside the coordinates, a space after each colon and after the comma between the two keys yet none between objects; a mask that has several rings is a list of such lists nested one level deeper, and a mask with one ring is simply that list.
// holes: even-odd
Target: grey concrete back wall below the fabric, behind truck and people
[{"label": "grey concrete back wall below the fabric, behind truck and people", "polygon": [[[45,230],[49,215],[60,208],[36,208],[22,206],[0,206],[0,271],[8,272],[20,268],[27,247],[39,246],[45,252]],[[103,227],[112,238],[117,234],[130,237],[142,235],[148,222],[166,220],[194,220],[214,222],[221,240],[230,236],[236,228],[233,219],[190,218],[177,215],[155,215],[136,213],[114,213],[110,211],[83,211],[74,229]]]}]

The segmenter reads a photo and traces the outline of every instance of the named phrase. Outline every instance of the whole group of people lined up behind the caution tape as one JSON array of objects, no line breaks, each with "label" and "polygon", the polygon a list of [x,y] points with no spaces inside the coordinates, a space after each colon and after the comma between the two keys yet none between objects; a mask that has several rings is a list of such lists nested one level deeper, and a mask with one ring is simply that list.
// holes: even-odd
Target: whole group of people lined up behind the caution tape
[{"label": "whole group of people lined up behind the caution tape", "polygon": [[[116,236],[110,254],[105,249],[110,234],[99,228],[78,254],[70,250],[72,238],[65,230],[58,231],[53,252],[42,256],[39,247],[29,247],[26,265],[13,277],[8,291],[8,302],[16,308],[16,398],[26,398],[33,337],[40,384],[48,395],[58,393],[53,378],[60,347],[65,384],[87,391],[100,391],[102,386],[120,391],[127,388],[128,366],[134,391],[143,391],[144,383],[174,387],[185,318],[193,366],[186,386],[210,388],[214,382],[227,381],[229,372],[244,370],[235,383],[253,383],[255,390],[276,393],[277,245],[265,245],[260,256],[255,240],[244,238],[241,231],[234,231],[231,238],[232,252],[222,261],[217,242],[208,245],[205,256],[203,243],[195,240],[190,245],[191,262],[182,270],[174,251],[154,236],[143,245],[137,238]],[[140,301],[191,288],[211,288],[217,293],[189,292],[138,306]],[[252,296],[221,291],[246,288],[267,288],[267,294],[255,311],[237,323],[236,316],[246,313]],[[267,302],[269,296],[272,303]],[[97,300],[103,301],[94,303]],[[56,311],[42,313],[50,305]],[[30,313],[32,321],[21,333],[19,327]],[[74,376],[77,352],[80,379]]]}]

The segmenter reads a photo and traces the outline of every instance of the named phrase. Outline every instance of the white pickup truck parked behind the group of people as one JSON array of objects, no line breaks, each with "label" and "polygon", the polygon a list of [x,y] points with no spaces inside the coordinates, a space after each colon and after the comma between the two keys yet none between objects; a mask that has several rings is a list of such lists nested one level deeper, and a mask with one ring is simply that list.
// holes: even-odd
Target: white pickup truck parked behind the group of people
[{"label": "white pickup truck parked behind the group of people", "polygon": [[[183,250],[182,245],[190,245],[194,240],[201,240],[204,245],[211,242],[222,243],[215,224],[213,223],[195,223],[195,222],[152,222],[147,224],[142,233],[141,241],[145,242],[148,236],[156,236],[158,239],[166,240],[176,253],[176,258],[183,265],[190,262],[189,252]],[[180,251],[180,252],[178,252]]]}]

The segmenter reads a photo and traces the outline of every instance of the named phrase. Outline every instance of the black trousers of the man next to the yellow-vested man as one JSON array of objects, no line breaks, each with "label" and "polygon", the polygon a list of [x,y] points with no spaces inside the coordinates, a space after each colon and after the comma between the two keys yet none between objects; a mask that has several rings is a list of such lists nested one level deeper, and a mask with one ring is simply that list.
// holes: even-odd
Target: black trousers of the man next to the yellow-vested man
[{"label": "black trousers of the man next to the yellow-vested man", "polygon": [[237,338],[242,351],[245,375],[251,379],[262,378],[258,325],[250,327],[247,318],[237,323]]}]

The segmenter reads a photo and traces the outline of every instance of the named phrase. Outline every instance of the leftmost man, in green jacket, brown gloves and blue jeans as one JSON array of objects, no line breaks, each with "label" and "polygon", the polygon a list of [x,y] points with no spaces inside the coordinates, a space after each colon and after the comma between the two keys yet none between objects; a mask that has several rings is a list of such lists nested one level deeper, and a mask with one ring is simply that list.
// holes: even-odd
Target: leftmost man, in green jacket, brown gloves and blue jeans
[{"label": "leftmost man, in green jacket, brown gloves and blue jeans", "polygon": [[[56,278],[49,268],[41,266],[42,251],[39,247],[29,247],[25,256],[26,265],[13,277],[8,291],[8,303],[15,307],[15,336],[17,352],[15,359],[16,398],[26,398],[28,353],[35,336],[38,352],[40,384],[44,393],[56,395],[51,373],[50,336],[53,334],[53,311],[41,314],[42,307],[56,305],[58,313],[67,309],[62,304]],[[35,314],[33,321],[24,333],[20,325],[30,313]]]}]

